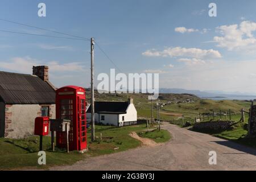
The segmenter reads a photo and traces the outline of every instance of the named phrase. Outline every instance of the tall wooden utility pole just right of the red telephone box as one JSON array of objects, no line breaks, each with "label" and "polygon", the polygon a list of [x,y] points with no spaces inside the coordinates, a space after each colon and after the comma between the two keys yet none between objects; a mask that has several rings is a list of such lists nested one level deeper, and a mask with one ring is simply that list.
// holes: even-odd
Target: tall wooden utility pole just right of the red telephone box
[{"label": "tall wooden utility pole just right of the red telephone box", "polygon": [[91,132],[91,140],[92,142],[95,140],[95,130],[94,130],[94,38],[90,39],[90,64],[91,64],[91,94],[92,94],[92,98],[90,101],[90,114],[91,114],[91,118],[92,118],[92,132]]}]

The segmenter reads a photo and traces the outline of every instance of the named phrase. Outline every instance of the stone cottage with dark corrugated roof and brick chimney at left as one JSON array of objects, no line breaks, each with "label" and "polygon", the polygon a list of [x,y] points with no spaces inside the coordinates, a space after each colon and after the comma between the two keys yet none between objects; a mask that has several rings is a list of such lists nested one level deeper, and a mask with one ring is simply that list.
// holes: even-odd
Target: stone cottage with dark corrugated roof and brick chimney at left
[{"label": "stone cottage with dark corrugated roof and brick chimney at left", "polygon": [[0,72],[0,137],[34,135],[36,117],[55,119],[55,87],[48,67],[33,67],[33,75]]}]

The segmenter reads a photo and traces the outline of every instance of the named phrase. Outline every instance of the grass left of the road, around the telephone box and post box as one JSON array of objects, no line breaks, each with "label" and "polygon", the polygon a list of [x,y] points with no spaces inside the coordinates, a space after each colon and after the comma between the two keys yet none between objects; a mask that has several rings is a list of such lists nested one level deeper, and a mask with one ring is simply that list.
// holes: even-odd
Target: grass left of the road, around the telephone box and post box
[{"label": "grass left of the road, around the telephone box and post box", "polygon": [[[155,127],[151,127],[155,129]],[[140,146],[141,142],[129,136],[129,133],[135,131],[137,133],[146,130],[146,125],[127,126],[117,128],[113,126],[96,126],[96,142],[90,141],[90,131],[88,130],[88,148],[89,151],[85,154],[80,154],[77,151],[72,151],[69,154],[65,150],[51,151],[51,138],[43,138],[43,150],[47,153],[47,165],[38,165],[38,151],[39,151],[39,137],[32,137],[27,139],[0,139],[0,169],[19,169],[23,167],[38,167],[39,169],[47,169],[51,166],[70,165],[79,160],[85,159],[88,156],[97,156],[103,154],[111,154],[113,152],[125,151],[130,148]],[[155,140],[159,142],[166,141],[168,136],[166,131],[158,136]],[[102,140],[100,135],[102,134]],[[160,133],[159,133],[160,134]],[[147,135],[152,136],[150,133]],[[147,137],[145,135],[144,137]]]}]

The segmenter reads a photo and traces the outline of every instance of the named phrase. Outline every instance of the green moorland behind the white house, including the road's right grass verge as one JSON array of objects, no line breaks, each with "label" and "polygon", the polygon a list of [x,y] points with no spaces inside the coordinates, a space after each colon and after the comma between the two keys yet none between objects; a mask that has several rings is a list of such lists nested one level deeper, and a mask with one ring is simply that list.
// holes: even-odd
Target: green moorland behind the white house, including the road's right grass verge
[{"label": "green moorland behind the white house, including the road's right grass verge", "polygon": [[[90,102],[90,92],[88,102]],[[96,92],[96,101],[127,101],[130,96],[134,98],[134,104],[138,111],[138,119],[148,119],[151,121],[151,101],[146,94],[98,94]],[[256,147],[254,138],[247,137],[249,114],[245,113],[245,122],[239,122],[241,119],[241,109],[249,111],[250,101],[222,100],[213,101],[201,99],[193,94],[159,94],[159,101],[153,101],[153,117],[157,118],[156,102],[160,102],[160,119],[180,127],[187,127],[195,124],[195,118],[201,118],[203,122],[229,120],[235,123],[228,130],[205,132],[215,137],[232,140],[247,146]],[[214,111],[214,116],[213,116]],[[230,115],[229,115],[230,111]],[[220,114],[220,112],[222,114]]]}]

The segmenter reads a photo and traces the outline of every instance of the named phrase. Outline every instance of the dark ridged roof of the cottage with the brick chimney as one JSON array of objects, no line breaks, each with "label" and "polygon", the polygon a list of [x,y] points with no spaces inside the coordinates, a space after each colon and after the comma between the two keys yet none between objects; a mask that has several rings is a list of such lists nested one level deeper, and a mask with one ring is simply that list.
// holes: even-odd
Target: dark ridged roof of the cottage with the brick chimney
[{"label": "dark ridged roof of the cottage with the brick chimney", "polygon": [[34,75],[0,72],[0,100],[5,104],[55,104],[55,90]]}]

